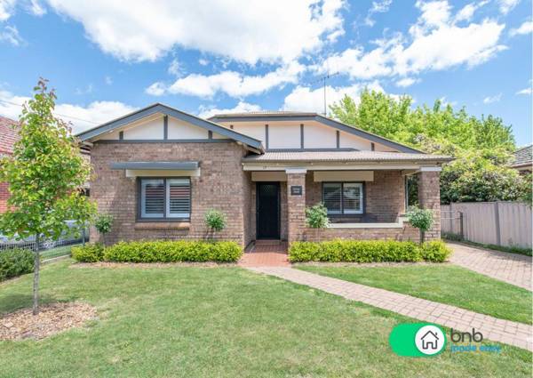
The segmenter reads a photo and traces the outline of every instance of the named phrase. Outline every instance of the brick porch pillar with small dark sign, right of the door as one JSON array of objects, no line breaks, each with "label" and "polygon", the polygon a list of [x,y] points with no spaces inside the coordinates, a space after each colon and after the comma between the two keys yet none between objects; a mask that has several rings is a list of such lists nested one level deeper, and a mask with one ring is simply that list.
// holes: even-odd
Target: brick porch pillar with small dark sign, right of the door
[{"label": "brick porch pillar with small dark sign, right of the door", "polygon": [[[287,171],[287,239],[289,245],[300,241],[306,229],[306,170],[288,169]],[[292,194],[291,187],[301,187],[301,195]]]}]

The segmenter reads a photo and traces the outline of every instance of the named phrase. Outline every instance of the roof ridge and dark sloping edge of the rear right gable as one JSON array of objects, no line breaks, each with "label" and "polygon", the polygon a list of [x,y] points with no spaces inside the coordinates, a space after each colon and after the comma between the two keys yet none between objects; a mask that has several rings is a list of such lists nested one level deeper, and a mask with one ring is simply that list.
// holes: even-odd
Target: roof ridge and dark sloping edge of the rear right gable
[{"label": "roof ridge and dark sloping edge of the rear right gable", "polygon": [[375,133],[364,131],[352,125],[346,125],[336,119],[324,117],[318,113],[298,112],[298,111],[258,111],[249,113],[233,113],[220,114],[209,118],[212,122],[268,122],[273,119],[276,121],[316,121],[324,125],[329,125],[345,133],[351,133],[364,138],[368,141],[374,141],[384,146],[398,149],[402,152],[409,152],[414,154],[423,154],[424,152],[418,149],[413,149],[397,141],[391,141],[385,137],[379,136]]}]

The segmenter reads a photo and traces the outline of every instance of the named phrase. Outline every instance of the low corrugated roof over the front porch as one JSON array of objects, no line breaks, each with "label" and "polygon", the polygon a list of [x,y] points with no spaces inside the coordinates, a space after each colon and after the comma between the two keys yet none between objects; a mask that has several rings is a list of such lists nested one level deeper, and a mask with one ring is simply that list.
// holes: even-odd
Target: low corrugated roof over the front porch
[{"label": "low corrugated roof over the front porch", "polygon": [[263,155],[243,157],[245,163],[290,162],[449,162],[452,157],[443,155],[411,154],[381,151],[267,151]]}]

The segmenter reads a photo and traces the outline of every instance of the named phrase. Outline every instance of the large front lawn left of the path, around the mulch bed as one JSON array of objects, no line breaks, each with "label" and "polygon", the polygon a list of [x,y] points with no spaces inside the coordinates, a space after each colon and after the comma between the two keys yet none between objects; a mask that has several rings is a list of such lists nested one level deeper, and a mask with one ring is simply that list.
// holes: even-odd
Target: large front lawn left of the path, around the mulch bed
[{"label": "large front lawn left of the path, around the mulch bed", "polygon": [[[44,266],[45,302],[84,301],[99,320],[41,341],[0,342],[2,377],[531,376],[531,353],[401,358],[412,319],[240,268]],[[31,275],[0,285],[0,313],[28,307]]]}]

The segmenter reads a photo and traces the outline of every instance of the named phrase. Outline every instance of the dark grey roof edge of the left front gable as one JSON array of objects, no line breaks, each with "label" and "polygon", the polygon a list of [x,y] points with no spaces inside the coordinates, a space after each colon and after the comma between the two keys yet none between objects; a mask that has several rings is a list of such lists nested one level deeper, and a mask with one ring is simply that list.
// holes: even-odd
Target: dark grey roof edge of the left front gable
[{"label": "dark grey roof edge of the left front gable", "polygon": [[98,125],[96,127],[91,128],[90,130],[84,131],[83,133],[78,133],[77,136],[82,141],[88,141],[91,138],[97,137],[103,133],[115,130],[119,127],[122,127],[123,125],[128,125],[131,122],[154,115],[156,113],[161,113],[165,116],[175,117],[189,124],[202,127],[214,133],[219,133],[220,135],[226,136],[227,138],[232,139],[234,141],[240,141],[243,144],[251,147],[252,149],[258,149],[259,151],[263,150],[261,141],[255,138],[251,138],[250,136],[244,135],[242,133],[234,132],[233,130],[227,129],[224,126],[217,125],[214,122],[207,121],[200,117],[195,117],[193,115],[160,103],[155,103],[146,108],[136,110],[123,117],[119,117],[112,121],[109,121],[106,124]]}]

